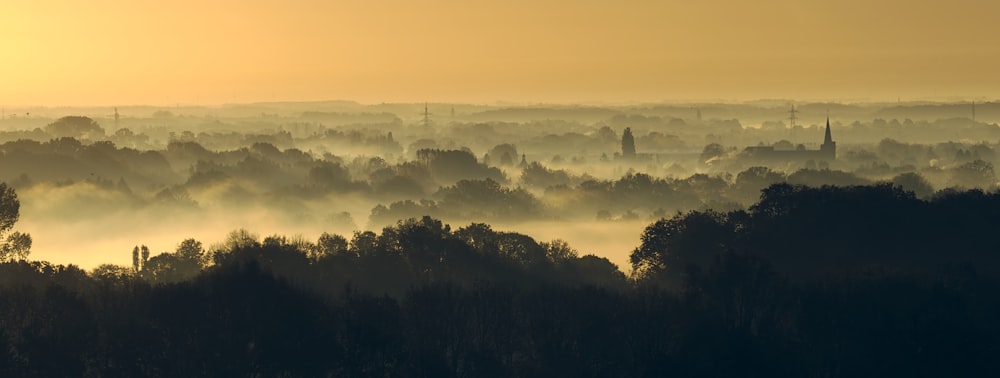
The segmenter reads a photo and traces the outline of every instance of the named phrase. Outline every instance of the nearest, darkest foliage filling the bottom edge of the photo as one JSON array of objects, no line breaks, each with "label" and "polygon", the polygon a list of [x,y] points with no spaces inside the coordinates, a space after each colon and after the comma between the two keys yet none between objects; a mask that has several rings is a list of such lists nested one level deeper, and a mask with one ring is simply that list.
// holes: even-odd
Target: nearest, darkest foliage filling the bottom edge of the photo
[{"label": "nearest, darkest foliage filling the bottom edge of the photo", "polygon": [[683,293],[430,283],[317,295],[254,262],[155,285],[8,263],[3,376],[995,376],[997,283],[863,272],[747,279],[720,257]]}]

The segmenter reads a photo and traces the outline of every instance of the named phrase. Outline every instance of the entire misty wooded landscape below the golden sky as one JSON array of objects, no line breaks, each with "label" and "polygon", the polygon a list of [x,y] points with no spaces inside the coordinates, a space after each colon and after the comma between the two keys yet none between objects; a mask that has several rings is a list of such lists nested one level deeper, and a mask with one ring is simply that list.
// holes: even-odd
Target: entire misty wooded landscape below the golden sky
[{"label": "entire misty wooded landscape below the golden sky", "polygon": [[328,105],[0,121],[0,371],[996,375],[995,124]]}]

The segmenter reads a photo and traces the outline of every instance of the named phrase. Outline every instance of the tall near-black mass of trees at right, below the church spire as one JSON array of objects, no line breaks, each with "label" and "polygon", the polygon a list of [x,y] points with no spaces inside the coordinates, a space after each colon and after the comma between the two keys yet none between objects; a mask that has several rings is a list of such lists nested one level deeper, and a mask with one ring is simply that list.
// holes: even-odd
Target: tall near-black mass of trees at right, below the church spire
[{"label": "tall near-black mass of trees at right, below the church spire", "polygon": [[630,258],[640,280],[675,288],[727,254],[754,256],[806,282],[859,271],[995,275],[998,229],[997,191],[945,190],[922,200],[892,184],[775,184],[745,210],[691,211],[651,224]]}]

